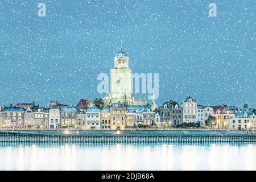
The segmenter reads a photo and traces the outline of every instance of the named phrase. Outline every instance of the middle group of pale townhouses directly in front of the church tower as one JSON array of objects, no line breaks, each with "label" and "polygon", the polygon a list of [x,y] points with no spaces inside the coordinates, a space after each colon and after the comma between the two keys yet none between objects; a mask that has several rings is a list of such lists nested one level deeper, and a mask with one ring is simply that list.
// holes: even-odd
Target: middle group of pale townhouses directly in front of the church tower
[{"label": "middle group of pale townhouses directly in front of the church tower", "polygon": [[[123,130],[127,128],[152,126],[158,120],[155,109],[151,106],[127,106],[120,103],[98,109],[93,105],[86,110],[87,130],[111,129]],[[159,118],[158,118],[159,119]]]}]

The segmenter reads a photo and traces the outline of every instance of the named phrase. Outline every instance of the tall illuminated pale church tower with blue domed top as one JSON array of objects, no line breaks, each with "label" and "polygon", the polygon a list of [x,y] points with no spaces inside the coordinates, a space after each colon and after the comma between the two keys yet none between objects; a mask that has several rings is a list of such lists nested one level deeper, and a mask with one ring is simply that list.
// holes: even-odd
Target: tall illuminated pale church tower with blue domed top
[{"label": "tall illuminated pale church tower with blue domed top", "polygon": [[106,105],[120,102],[133,105],[134,98],[131,94],[131,69],[129,68],[129,56],[121,47],[114,56],[114,68],[111,69],[111,92],[103,100]]}]

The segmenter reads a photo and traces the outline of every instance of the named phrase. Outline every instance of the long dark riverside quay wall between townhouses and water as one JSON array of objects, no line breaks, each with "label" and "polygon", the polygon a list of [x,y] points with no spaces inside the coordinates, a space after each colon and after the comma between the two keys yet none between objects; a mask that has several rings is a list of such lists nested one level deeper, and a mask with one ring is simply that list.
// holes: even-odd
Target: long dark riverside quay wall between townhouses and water
[{"label": "long dark riverside quay wall between townhouses and water", "polygon": [[0,142],[256,142],[255,130],[0,130]]}]

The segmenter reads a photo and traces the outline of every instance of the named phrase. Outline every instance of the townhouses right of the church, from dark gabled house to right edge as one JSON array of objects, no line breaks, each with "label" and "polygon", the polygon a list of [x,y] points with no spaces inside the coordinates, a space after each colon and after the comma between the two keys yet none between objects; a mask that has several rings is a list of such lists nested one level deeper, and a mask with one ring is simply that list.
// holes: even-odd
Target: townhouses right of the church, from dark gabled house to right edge
[{"label": "townhouses right of the church, from dark gabled house to right edge", "polygon": [[172,100],[164,102],[158,107],[158,113],[160,127],[181,125],[184,122],[200,123],[201,127],[205,127],[205,121],[211,115],[216,118],[215,127],[218,129],[256,128],[256,117],[251,109],[240,111],[238,107],[224,104],[203,106],[192,97],[187,97],[181,104]]}]

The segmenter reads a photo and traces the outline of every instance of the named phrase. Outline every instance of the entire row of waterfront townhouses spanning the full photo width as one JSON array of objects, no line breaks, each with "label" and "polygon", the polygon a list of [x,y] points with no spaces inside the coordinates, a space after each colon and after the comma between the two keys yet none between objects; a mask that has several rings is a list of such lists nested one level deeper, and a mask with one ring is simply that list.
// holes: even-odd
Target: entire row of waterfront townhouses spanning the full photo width
[{"label": "entire row of waterfront townhouses spanning the full photo width", "polygon": [[171,100],[159,107],[152,100],[150,105],[117,103],[98,109],[92,101],[80,100],[76,106],[51,101],[48,107],[31,103],[1,107],[0,110],[0,128],[122,130],[145,126],[175,127],[184,122],[200,123],[205,127],[205,120],[210,115],[216,118],[216,128],[256,128],[255,114],[250,110],[230,109],[228,105],[198,105],[192,97],[181,104]]}]

